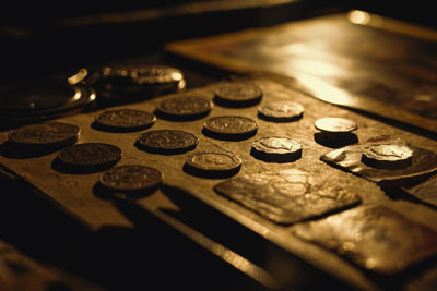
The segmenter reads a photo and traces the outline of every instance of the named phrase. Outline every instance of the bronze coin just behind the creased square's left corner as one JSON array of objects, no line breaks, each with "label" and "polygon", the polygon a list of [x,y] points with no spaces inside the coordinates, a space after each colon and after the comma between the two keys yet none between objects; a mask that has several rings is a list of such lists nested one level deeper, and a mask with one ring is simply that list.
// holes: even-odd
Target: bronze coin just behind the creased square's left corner
[{"label": "bronze coin just behind the creased square's left corner", "polygon": [[187,156],[187,165],[202,171],[233,171],[241,166],[241,159],[228,153],[199,151]]}]

